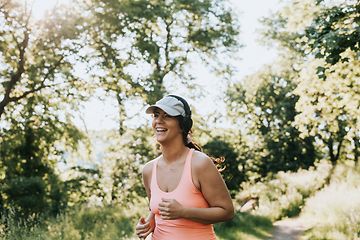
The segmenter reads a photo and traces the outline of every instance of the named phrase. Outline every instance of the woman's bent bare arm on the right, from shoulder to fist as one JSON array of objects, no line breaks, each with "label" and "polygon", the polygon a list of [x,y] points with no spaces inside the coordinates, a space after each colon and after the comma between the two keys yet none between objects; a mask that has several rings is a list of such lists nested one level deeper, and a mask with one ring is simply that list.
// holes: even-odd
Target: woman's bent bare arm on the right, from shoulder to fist
[{"label": "woman's bent bare arm on the right, from shoulder to fist", "polygon": [[163,219],[187,218],[204,224],[230,220],[234,216],[234,206],[218,169],[207,156],[193,160],[193,179],[197,179],[209,208],[185,208],[175,199],[163,199],[159,205],[160,215]]}]

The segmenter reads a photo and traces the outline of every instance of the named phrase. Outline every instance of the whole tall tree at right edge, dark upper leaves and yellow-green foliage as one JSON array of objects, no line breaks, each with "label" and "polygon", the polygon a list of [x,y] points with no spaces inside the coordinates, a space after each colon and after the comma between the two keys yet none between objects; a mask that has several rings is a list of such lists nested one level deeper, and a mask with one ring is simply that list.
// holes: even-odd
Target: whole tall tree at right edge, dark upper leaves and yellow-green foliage
[{"label": "whole tall tree at right edge, dark upper leaves and yellow-green foliage", "polygon": [[295,125],[326,146],[333,165],[358,162],[359,9],[358,1],[291,1],[265,21],[267,36],[303,57]]}]

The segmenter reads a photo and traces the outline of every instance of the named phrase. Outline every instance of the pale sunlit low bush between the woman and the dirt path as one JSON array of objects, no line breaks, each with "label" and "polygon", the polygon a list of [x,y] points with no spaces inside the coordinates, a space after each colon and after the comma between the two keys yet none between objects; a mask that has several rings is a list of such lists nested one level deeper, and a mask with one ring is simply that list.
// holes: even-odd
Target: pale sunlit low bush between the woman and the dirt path
[{"label": "pale sunlit low bush between the woman and the dirt path", "polygon": [[330,170],[325,162],[316,169],[297,172],[279,172],[273,179],[256,184],[242,184],[242,191],[237,196],[239,206],[249,198],[257,199],[253,213],[265,216],[272,221],[284,217],[297,216],[307,198],[321,189]]}]

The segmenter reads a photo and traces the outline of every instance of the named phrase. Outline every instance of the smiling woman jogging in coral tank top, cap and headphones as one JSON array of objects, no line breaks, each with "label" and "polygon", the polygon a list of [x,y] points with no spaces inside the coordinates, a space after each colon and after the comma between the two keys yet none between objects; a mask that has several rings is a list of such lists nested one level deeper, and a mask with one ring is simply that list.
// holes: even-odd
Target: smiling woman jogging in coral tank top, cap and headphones
[{"label": "smiling woman jogging in coral tank top, cap and headphones", "polygon": [[229,220],[234,206],[211,158],[189,140],[191,110],[181,97],[168,95],[147,108],[162,154],[143,168],[150,213],[136,234],[153,240],[216,239],[213,223]]}]

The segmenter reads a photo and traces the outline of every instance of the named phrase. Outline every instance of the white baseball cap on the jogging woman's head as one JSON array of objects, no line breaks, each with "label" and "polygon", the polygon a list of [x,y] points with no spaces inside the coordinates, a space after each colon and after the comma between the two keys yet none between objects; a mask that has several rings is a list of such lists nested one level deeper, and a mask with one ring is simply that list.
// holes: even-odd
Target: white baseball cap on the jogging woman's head
[{"label": "white baseball cap on the jogging woman's head", "polygon": [[186,116],[184,104],[180,100],[172,96],[165,96],[159,101],[157,101],[154,105],[149,106],[146,109],[146,113],[154,113],[156,108],[160,108],[170,116]]}]

